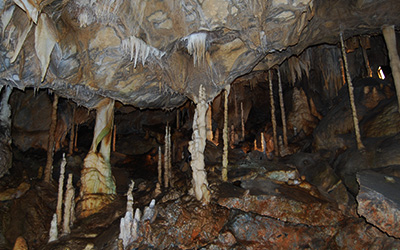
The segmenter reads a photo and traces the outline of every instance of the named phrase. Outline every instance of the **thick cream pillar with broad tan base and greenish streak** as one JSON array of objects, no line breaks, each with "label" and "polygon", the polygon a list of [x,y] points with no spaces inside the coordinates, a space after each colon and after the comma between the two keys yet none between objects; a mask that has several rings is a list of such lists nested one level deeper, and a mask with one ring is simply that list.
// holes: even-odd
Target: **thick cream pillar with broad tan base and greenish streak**
[{"label": "thick cream pillar with broad tan base and greenish streak", "polygon": [[98,212],[115,197],[115,182],[110,164],[113,123],[114,101],[104,99],[96,107],[92,146],[81,172],[81,190],[77,204],[81,218]]}]

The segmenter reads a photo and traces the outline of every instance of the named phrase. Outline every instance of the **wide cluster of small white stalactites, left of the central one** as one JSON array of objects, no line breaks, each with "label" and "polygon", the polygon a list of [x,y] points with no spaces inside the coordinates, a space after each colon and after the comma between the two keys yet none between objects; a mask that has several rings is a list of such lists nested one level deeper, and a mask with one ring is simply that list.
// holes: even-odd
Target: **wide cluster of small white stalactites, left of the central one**
[{"label": "wide cluster of small white stalactites, left of the central one", "polygon": [[142,62],[142,65],[144,66],[150,58],[160,60],[165,55],[165,52],[148,45],[135,36],[130,36],[127,39],[122,40],[122,51],[130,53],[130,59],[131,61],[134,61],[135,68],[138,61]]}]

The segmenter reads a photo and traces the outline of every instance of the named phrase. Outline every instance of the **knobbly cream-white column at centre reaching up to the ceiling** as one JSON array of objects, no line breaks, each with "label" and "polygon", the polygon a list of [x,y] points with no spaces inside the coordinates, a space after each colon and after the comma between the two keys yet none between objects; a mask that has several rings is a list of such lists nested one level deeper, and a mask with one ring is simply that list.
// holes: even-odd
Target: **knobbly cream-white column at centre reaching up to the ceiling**
[{"label": "knobbly cream-white column at centre reaching up to the ceiling", "polygon": [[208,104],[206,103],[205,90],[201,85],[199,88],[199,96],[196,100],[196,110],[193,117],[193,134],[192,140],[189,142],[189,152],[192,154],[193,179],[191,194],[196,196],[196,199],[205,204],[210,202],[210,191],[208,190],[207,172],[204,163],[204,149],[206,147],[206,112]]}]

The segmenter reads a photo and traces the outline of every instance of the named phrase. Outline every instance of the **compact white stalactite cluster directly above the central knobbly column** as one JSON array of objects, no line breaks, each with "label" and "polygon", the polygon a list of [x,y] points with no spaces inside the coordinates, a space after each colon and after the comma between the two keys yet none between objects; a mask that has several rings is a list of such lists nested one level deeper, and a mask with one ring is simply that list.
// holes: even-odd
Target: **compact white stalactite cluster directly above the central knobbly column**
[{"label": "compact white stalactite cluster directly above the central knobbly column", "polygon": [[186,49],[193,56],[194,66],[203,63],[206,54],[207,33],[193,33],[184,37],[183,40],[187,42]]}]

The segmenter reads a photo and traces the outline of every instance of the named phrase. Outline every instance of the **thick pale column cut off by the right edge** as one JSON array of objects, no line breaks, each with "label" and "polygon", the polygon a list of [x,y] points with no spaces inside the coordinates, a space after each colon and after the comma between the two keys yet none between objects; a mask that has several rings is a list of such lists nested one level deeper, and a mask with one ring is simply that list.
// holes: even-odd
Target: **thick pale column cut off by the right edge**
[{"label": "thick pale column cut off by the right edge", "polygon": [[383,36],[385,38],[386,47],[389,52],[390,67],[392,68],[392,75],[394,85],[396,87],[398,111],[400,112],[400,59],[397,53],[396,45],[396,33],[394,31],[394,25],[382,27]]}]

